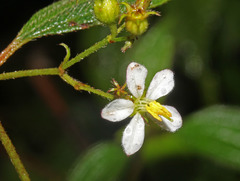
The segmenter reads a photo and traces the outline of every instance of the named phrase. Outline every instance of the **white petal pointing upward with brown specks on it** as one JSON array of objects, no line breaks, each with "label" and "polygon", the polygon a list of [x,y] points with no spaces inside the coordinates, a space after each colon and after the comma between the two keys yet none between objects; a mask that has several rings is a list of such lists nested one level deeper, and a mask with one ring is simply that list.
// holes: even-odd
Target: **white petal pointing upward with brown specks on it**
[{"label": "white petal pointing upward with brown specks on it", "polygon": [[147,69],[132,62],[127,67],[127,86],[134,97],[141,97],[145,88]]}]

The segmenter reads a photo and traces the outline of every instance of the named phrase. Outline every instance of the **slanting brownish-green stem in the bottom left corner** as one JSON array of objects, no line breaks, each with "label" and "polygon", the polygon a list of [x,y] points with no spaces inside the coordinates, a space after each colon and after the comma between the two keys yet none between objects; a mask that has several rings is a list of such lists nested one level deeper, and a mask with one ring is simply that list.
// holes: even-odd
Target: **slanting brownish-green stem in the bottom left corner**
[{"label": "slanting brownish-green stem in the bottom left corner", "polygon": [[19,178],[22,181],[30,181],[29,175],[28,175],[26,169],[24,168],[24,166],[15,150],[15,147],[13,146],[10,138],[8,137],[6,131],[4,130],[1,122],[0,122],[0,140],[9,155],[13,166],[16,169],[16,171],[19,175]]}]

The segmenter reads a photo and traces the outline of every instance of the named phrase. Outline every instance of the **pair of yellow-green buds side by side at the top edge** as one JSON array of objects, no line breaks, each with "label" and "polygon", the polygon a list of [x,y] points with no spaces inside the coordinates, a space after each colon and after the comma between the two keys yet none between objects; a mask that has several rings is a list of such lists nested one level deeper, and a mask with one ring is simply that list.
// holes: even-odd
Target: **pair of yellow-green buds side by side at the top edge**
[{"label": "pair of yellow-green buds side by side at the top edge", "polygon": [[119,23],[125,19],[125,27],[128,32],[138,36],[148,29],[148,16],[158,15],[155,11],[149,11],[150,0],[136,0],[135,4],[129,5],[122,2],[126,6],[127,13],[120,15],[120,8],[117,0],[95,0],[94,13],[96,18],[103,24],[115,24],[117,19]]}]

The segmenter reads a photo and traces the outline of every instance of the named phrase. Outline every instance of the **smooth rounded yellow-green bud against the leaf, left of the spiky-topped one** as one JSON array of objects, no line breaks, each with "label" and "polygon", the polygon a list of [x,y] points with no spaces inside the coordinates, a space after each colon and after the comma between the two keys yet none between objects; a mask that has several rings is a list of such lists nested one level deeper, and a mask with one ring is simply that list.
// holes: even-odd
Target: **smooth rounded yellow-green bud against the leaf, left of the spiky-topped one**
[{"label": "smooth rounded yellow-green bud against the leaf, left of the spiky-topped one", "polygon": [[113,24],[120,14],[119,4],[117,0],[95,0],[94,13],[101,23]]}]

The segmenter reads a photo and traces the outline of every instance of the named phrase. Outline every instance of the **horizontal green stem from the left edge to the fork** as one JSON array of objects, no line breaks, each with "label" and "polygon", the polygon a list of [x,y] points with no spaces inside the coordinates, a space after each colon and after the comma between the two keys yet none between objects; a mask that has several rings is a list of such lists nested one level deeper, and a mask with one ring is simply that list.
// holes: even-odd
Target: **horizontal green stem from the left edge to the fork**
[{"label": "horizontal green stem from the left edge to the fork", "polygon": [[0,74],[0,80],[15,79],[20,77],[31,77],[38,75],[58,75],[58,68],[46,68],[46,69],[33,69],[33,70],[20,70],[15,72],[8,72]]}]

